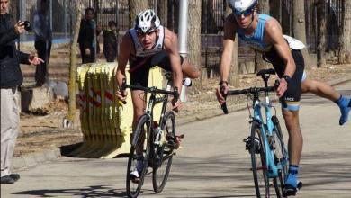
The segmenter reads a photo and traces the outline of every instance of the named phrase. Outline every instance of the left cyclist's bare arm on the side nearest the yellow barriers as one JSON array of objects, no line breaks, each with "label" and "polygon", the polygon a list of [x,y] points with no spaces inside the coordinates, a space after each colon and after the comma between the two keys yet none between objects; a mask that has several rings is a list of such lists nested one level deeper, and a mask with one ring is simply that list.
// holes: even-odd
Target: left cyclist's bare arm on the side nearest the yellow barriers
[{"label": "left cyclist's bare arm on the side nearest the yellow barriers", "polygon": [[[130,34],[127,32],[121,39],[120,53],[118,54],[118,58],[117,58],[118,67],[116,72],[116,80],[119,86],[121,86],[122,79],[126,77],[125,67],[127,66],[132,50],[133,50],[133,43],[130,38]],[[126,95],[126,93],[124,93],[123,95]],[[117,96],[121,100],[125,100],[125,96],[123,95],[121,94],[121,92],[117,91]]]}]

